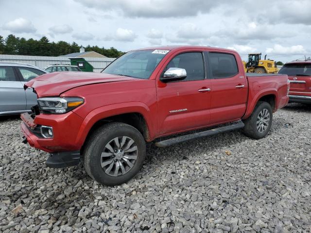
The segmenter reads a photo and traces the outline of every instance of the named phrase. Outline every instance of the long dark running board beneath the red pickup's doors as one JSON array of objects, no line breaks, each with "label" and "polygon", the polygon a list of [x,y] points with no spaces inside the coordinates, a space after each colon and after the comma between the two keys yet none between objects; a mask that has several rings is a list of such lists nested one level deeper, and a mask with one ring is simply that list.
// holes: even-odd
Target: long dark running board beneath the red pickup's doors
[{"label": "long dark running board beneath the red pickup's doors", "polygon": [[224,132],[228,132],[228,131],[232,131],[232,130],[238,130],[238,129],[241,129],[243,127],[244,127],[244,123],[242,123],[242,122],[237,123],[237,124],[233,124],[233,125],[222,126],[222,127],[212,129],[212,130],[207,130],[207,131],[203,131],[203,132],[199,132],[199,133],[191,133],[191,134],[182,135],[179,137],[167,139],[164,141],[156,142],[155,146],[157,146],[157,147],[168,147],[168,146],[172,146],[172,145],[175,145],[177,143],[180,143],[180,142],[185,142],[185,141],[192,140],[195,138],[211,136],[211,135],[215,135],[218,133],[224,133]]}]

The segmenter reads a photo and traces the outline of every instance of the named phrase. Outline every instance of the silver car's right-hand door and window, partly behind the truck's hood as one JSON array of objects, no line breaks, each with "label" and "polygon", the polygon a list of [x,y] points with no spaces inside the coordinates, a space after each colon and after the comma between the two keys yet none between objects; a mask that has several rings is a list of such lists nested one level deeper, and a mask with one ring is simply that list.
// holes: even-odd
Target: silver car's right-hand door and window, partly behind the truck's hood
[{"label": "silver car's right-hand door and window, partly behind the truck's hood", "polygon": [[[45,74],[42,70],[29,67],[18,67],[17,72],[23,85],[35,77]],[[30,110],[32,106],[37,104],[37,95],[33,92],[33,88],[26,89],[26,101],[27,110]]]}]

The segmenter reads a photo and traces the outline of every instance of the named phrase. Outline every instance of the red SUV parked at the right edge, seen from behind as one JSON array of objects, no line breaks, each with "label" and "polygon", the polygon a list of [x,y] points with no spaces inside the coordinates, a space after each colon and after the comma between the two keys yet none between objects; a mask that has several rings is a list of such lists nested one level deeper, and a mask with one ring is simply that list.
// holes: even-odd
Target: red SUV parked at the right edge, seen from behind
[{"label": "red SUV parked at the right edge, seen from behind", "polygon": [[289,102],[311,104],[311,59],[286,63],[279,74],[287,74],[291,82]]}]

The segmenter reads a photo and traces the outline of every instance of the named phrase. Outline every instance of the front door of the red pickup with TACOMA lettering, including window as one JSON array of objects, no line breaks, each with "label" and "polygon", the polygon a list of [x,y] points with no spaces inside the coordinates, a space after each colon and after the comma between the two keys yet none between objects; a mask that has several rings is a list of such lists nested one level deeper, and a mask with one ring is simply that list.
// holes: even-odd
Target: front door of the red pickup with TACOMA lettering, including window
[{"label": "front door of the red pickup with TACOMA lettering, including window", "polygon": [[183,81],[171,83],[157,80],[158,134],[177,133],[207,126],[210,80],[206,79],[203,54],[178,54],[168,63],[165,70],[170,67],[186,69],[187,77]]}]

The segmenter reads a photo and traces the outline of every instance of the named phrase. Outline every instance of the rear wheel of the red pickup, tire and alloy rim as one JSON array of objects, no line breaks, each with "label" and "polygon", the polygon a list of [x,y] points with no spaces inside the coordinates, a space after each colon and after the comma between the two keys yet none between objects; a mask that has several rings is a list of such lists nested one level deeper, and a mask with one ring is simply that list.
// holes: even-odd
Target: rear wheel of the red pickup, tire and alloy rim
[{"label": "rear wheel of the red pickup, tire and alloy rim", "polygon": [[[269,119],[268,117],[264,116],[269,116]],[[261,117],[263,119],[261,119]],[[255,139],[263,138],[267,135],[271,128],[272,119],[273,116],[271,105],[267,102],[259,101],[256,104],[252,115],[243,120],[245,124],[243,132],[248,137]],[[263,125],[263,127],[260,125]]]}]

